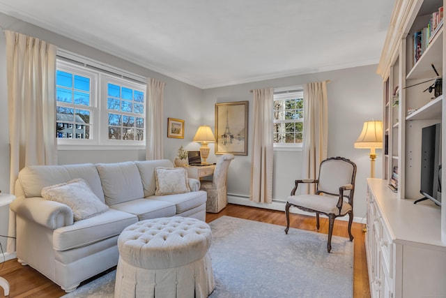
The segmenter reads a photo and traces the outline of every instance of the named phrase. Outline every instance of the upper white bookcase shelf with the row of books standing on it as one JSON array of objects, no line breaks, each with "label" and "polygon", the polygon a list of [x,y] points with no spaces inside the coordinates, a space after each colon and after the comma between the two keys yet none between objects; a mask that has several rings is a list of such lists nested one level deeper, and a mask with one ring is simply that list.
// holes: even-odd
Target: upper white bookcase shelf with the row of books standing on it
[{"label": "upper white bookcase shelf with the row of books standing on it", "polygon": [[435,66],[440,75],[443,73],[443,23],[442,27],[432,38],[426,51],[422,54],[422,57],[418,59],[417,63],[406,76],[407,80],[426,80],[429,77],[437,77],[431,64]]}]

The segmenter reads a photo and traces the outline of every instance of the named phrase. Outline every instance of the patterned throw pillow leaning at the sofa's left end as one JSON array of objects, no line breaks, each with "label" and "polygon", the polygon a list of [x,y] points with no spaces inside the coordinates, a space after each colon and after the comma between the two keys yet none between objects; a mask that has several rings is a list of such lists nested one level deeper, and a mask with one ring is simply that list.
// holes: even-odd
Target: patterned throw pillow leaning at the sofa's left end
[{"label": "patterned throw pillow leaning at the sofa's left end", "polygon": [[84,179],[72,179],[42,188],[42,198],[66,204],[72,209],[75,221],[93,217],[109,209]]}]

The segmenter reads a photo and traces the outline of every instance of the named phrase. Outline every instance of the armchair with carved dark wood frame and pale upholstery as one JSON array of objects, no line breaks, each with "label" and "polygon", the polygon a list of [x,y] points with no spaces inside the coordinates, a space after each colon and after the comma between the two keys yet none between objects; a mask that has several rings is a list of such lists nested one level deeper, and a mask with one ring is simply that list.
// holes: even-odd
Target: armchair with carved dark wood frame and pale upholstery
[{"label": "armchair with carved dark wood frame and pale upholstery", "polygon": [[[319,214],[328,216],[328,241],[327,251],[332,249],[332,232],[334,218],[348,214],[348,235],[353,241],[351,224],[353,221],[353,193],[355,192],[356,165],[349,159],[343,157],[327,158],[319,166],[318,179],[295,180],[295,186],[291,196],[285,205],[286,229],[288,234],[290,228],[291,206],[303,211],[316,212],[316,228],[319,230]],[[299,184],[316,184],[316,194],[295,195]]]}]

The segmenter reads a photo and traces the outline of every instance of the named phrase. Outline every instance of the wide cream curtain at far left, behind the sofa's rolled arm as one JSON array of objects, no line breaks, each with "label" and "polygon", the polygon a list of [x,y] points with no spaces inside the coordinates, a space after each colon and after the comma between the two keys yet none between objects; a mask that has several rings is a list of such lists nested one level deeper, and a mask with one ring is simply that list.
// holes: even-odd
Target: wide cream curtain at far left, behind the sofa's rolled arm
[{"label": "wide cream curtain at far left, behind the sofa's rolled arm", "polygon": [[[56,47],[43,40],[5,30],[10,193],[19,171],[28,165],[56,165]],[[15,236],[10,211],[9,234]],[[8,241],[8,252],[15,241]]]}]

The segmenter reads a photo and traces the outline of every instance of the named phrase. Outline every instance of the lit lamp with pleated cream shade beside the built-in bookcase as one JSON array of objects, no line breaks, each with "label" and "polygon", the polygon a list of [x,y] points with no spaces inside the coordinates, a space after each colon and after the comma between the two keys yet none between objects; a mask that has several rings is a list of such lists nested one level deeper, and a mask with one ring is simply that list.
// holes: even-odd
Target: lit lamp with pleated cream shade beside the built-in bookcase
[{"label": "lit lamp with pleated cream shade beside the built-in bookcase", "polygon": [[370,177],[375,177],[375,149],[383,148],[383,121],[365,121],[355,148],[370,149]]}]

